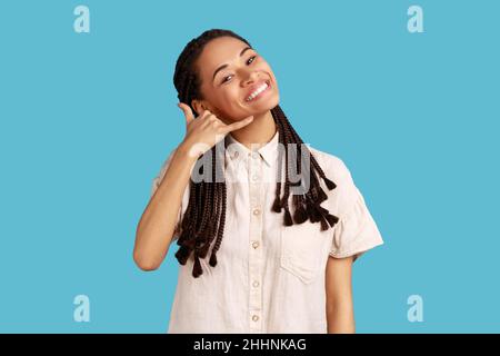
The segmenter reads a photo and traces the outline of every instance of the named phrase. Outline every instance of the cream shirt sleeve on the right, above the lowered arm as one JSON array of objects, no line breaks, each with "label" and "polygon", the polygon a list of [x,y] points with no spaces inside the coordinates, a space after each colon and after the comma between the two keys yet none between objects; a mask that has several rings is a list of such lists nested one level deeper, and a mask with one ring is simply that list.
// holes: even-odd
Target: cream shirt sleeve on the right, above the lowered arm
[{"label": "cream shirt sleeve on the right, above the lowered arm", "polygon": [[354,261],[367,250],[383,245],[382,236],[371,216],[363,196],[356,187],[349,169],[343,165],[342,189],[346,208],[334,225],[330,256],[343,258],[354,256]]}]

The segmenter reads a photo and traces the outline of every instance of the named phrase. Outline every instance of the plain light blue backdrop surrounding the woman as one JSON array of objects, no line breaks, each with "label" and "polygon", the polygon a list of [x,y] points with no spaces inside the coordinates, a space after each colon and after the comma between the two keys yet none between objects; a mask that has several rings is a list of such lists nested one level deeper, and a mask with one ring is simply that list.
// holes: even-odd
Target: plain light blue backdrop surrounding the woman
[{"label": "plain light blue backdrop surrounding the woman", "polygon": [[[90,9],[76,33],[73,9]],[[423,8],[423,33],[407,10]],[[177,283],[133,264],[151,181],[183,138],[174,62],[247,38],[306,142],[342,158],[386,245],[354,267],[359,333],[500,332],[498,1],[0,4],[0,332],[164,333]],[[73,320],[90,297],[90,323]],[[422,323],[407,298],[423,298]]]}]

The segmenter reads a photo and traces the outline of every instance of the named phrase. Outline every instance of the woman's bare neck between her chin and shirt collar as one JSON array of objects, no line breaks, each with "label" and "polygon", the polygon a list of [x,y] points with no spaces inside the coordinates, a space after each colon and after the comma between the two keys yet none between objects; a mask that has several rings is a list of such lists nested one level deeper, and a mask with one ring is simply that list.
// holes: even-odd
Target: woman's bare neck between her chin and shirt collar
[{"label": "woman's bare neck between her chin and shirt collar", "polygon": [[254,115],[252,122],[232,131],[231,136],[250,150],[259,149],[274,137],[277,129],[271,110],[268,110],[261,115]]}]

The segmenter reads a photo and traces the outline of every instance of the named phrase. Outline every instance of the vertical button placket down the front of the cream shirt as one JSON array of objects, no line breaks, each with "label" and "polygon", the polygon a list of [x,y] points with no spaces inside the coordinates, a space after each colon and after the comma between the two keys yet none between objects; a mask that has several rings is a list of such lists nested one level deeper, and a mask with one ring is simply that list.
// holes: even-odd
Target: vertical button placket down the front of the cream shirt
[{"label": "vertical button placket down the front of the cream shirt", "polygon": [[[256,155],[257,154],[257,155]],[[251,333],[262,333],[262,162],[258,152],[249,155],[250,248],[249,248],[249,322]]]}]

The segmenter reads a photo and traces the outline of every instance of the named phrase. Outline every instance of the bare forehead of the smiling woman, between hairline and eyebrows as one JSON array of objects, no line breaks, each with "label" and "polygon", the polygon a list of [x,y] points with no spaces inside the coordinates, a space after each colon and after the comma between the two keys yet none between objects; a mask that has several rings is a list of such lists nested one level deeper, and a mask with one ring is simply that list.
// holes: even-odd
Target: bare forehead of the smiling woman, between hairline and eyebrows
[{"label": "bare forehead of the smiling woman, between hairline and eyebrows", "polygon": [[211,76],[221,65],[237,59],[240,51],[248,47],[243,41],[233,37],[219,37],[208,42],[198,59],[201,76]]}]

